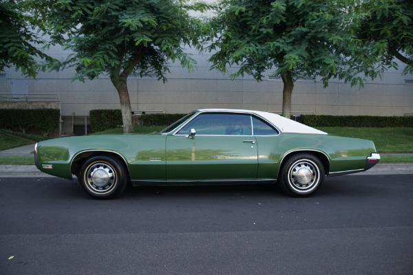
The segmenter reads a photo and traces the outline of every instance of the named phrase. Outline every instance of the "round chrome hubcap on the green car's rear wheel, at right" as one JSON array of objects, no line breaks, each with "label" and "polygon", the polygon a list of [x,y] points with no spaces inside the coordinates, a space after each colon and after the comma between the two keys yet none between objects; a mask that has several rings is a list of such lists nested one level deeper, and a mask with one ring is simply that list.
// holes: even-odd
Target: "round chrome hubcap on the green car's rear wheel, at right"
[{"label": "round chrome hubcap on the green car's rear wheel, at right", "polygon": [[298,192],[308,192],[317,187],[320,172],[310,159],[299,159],[288,170],[290,186]]}]

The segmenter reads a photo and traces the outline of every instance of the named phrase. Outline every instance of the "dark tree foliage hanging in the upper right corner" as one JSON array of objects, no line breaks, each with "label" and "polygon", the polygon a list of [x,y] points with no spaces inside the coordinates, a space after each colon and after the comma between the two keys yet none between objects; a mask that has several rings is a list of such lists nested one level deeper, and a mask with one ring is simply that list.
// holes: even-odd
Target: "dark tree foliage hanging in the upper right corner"
[{"label": "dark tree foliage hanging in the upper right corner", "polygon": [[[359,38],[377,45],[375,53],[383,61],[393,58],[405,63],[405,74],[413,74],[413,1],[374,0],[364,1]],[[384,49],[384,50],[382,50]]]}]

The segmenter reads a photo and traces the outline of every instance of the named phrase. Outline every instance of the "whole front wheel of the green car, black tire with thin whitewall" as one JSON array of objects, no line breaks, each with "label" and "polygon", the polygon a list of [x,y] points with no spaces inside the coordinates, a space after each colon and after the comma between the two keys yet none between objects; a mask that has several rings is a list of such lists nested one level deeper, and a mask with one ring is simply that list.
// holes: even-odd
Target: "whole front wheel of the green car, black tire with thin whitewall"
[{"label": "whole front wheel of the green car, black tire with thin whitewall", "polygon": [[83,162],[78,181],[88,195],[96,199],[113,199],[125,190],[127,175],[117,159],[96,156]]}]

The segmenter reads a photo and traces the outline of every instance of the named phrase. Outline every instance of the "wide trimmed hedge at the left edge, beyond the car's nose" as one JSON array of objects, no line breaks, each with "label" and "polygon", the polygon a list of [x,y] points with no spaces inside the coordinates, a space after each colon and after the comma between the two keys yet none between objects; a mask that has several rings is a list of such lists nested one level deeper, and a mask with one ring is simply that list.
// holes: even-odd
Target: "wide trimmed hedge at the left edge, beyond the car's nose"
[{"label": "wide trimmed hedge at the left edge, beyond the car's nose", "polygon": [[37,130],[47,136],[59,126],[59,109],[0,109],[0,129],[14,132]]}]

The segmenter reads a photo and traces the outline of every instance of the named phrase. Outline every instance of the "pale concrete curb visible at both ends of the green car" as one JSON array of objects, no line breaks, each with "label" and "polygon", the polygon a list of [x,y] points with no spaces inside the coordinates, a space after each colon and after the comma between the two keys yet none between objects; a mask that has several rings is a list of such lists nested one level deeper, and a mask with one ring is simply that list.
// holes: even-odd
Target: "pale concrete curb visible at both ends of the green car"
[{"label": "pale concrete curb visible at both ends of the green car", "polygon": [[[370,170],[350,175],[401,175],[413,174],[413,164],[377,164]],[[0,165],[0,177],[54,177],[34,165]]]}]

